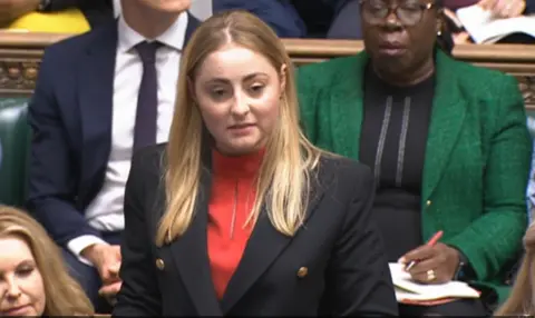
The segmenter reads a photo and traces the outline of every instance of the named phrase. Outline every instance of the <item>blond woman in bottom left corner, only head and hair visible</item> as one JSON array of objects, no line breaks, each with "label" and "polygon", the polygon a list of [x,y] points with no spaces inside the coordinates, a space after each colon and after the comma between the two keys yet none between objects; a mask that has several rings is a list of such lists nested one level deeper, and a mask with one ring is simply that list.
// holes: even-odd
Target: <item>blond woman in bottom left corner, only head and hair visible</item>
[{"label": "blond woman in bottom left corner, only head and hair visible", "polygon": [[45,229],[26,212],[0,206],[0,317],[93,314]]}]

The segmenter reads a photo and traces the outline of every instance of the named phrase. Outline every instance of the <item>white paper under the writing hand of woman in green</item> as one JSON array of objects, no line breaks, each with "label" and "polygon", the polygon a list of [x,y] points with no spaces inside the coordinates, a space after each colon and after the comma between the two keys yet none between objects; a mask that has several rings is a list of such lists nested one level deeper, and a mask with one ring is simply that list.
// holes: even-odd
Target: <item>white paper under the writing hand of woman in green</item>
[{"label": "white paper under the writing hand of woman in green", "polygon": [[409,300],[434,300],[441,298],[479,298],[479,291],[463,281],[439,285],[422,285],[414,281],[403,265],[390,262],[390,275],[396,287],[396,298]]}]

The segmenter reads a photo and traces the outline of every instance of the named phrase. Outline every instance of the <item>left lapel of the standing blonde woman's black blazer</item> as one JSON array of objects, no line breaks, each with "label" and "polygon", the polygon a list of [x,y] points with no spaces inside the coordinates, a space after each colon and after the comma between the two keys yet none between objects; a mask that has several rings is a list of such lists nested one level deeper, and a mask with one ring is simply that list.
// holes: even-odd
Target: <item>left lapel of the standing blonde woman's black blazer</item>
[{"label": "left lapel of the standing blonde woman's black blazer", "polygon": [[203,169],[195,218],[187,231],[171,244],[171,251],[182,281],[201,317],[222,316],[212,280],[207,251],[206,226],[208,223],[211,185],[210,169]]}]

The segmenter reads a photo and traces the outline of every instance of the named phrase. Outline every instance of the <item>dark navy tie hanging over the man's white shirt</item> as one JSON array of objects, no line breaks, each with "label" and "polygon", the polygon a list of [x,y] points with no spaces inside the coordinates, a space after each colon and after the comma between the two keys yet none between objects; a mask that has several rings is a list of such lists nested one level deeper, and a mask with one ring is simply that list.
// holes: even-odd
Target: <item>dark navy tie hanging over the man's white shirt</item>
[{"label": "dark navy tie hanging over the man's white shirt", "polygon": [[136,126],[134,127],[134,151],[155,145],[158,115],[158,79],[156,51],[159,42],[142,42],[135,47],[143,61],[143,77],[137,100]]}]

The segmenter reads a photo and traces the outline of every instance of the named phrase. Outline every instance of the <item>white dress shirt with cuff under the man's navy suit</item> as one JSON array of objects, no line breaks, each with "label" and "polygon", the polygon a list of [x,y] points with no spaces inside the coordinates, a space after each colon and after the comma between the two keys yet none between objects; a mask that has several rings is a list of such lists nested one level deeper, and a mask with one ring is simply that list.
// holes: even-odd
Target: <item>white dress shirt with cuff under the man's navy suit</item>
[{"label": "white dress shirt with cuff under the man's navy suit", "polygon": [[[187,13],[182,13],[167,31],[154,39],[164,44],[156,52],[158,80],[156,140],[158,143],[167,141],[173,120],[181,51],[185,41],[187,20]],[[103,188],[89,203],[85,213],[88,223],[100,231],[120,231],[125,228],[123,200],[130,170],[137,97],[143,76],[143,62],[134,47],[143,41],[150,41],[128,27],[121,17],[117,24],[111,151]],[[81,236],[70,240],[67,247],[78,256],[80,261],[90,265],[80,256],[80,252],[98,242],[104,241],[95,236]]]}]

